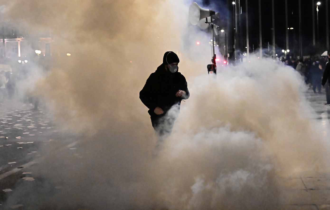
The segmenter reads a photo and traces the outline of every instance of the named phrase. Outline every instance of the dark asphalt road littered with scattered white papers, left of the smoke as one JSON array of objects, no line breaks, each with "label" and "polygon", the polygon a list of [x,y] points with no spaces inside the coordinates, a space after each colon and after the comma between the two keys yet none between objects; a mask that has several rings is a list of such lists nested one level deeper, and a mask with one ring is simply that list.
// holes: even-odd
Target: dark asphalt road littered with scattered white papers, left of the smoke
[{"label": "dark asphalt road littered with scattered white papers, left of the smoke", "polygon": [[14,111],[2,107],[0,113],[0,209],[30,209],[26,204],[3,204],[17,186],[35,181],[34,165],[78,143],[79,137],[56,130],[44,105],[32,108],[29,104]]}]

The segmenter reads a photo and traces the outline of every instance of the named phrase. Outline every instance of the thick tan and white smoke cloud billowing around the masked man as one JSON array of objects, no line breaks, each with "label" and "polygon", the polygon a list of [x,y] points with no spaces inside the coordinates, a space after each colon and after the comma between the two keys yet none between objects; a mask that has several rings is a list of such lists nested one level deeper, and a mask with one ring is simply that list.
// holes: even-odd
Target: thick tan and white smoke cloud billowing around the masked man
[{"label": "thick tan and white smoke cloud billowing around the masked man", "polygon": [[[5,3],[8,17],[49,29],[54,47],[71,53],[54,57],[35,92],[60,125],[88,136],[80,159],[49,157],[35,172],[45,181],[8,203],[19,196],[35,209],[278,209],[280,177],[328,172],[299,75],[270,59],[206,75],[209,35],[189,25],[189,4]],[[156,138],[138,96],[168,50],[178,52],[191,96],[152,159]]]}]

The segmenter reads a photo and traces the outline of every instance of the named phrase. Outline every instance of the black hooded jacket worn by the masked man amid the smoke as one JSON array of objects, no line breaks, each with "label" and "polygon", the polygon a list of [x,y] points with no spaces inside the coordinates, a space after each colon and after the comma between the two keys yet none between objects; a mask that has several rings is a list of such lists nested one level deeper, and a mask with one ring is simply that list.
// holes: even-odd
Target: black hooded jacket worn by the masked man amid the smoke
[{"label": "black hooded jacket worn by the masked man amid the smoke", "polygon": [[[185,98],[175,96],[179,90],[187,93]],[[167,72],[165,64],[161,64],[149,76],[145,86],[140,91],[140,99],[149,108],[148,113],[150,115],[155,115],[153,111],[157,106],[163,109],[165,114],[173,105],[180,105],[182,99],[188,98],[189,91],[184,76],[178,71],[175,73]]]}]

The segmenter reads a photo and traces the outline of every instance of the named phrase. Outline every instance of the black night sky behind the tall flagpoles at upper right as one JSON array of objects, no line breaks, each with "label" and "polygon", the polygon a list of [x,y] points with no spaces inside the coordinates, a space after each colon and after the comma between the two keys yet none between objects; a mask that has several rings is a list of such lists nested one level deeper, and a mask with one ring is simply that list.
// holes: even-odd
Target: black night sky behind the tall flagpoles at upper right
[{"label": "black night sky behind the tall flagpoles at upper right", "polygon": [[[232,14],[232,2],[230,0],[229,13],[227,10],[226,0],[203,0],[204,8],[214,9],[221,15],[220,27],[226,28],[226,20],[228,15]],[[237,0],[238,1],[238,0]],[[298,0],[288,1],[288,27],[294,28],[289,30],[289,49],[299,48],[299,8]],[[317,42],[317,18],[316,18],[316,2],[315,3],[315,38],[317,47],[313,48],[313,21],[312,21],[312,0],[301,0],[302,10],[302,40],[303,54],[309,55],[319,53],[326,49],[326,10],[325,1],[320,0],[321,5],[318,7],[319,12],[319,42]],[[330,2],[329,2],[330,4]],[[211,8],[210,8],[211,7]],[[246,46],[246,18],[245,18],[245,0],[241,0],[242,15],[241,28],[243,45]],[[262,41],[263,47],[267,47],[268,42],[272,45],[272,1],[261,0],[261,15],[262,15]],[[231,17],[230,17],[231,18]],[[258,0],[248,0],[248,20],[249,20],[249,45],[252,48],[259,47],[259,11]],[[285,49],[285,0],[275,0],[275,42],[278,48]]]}]

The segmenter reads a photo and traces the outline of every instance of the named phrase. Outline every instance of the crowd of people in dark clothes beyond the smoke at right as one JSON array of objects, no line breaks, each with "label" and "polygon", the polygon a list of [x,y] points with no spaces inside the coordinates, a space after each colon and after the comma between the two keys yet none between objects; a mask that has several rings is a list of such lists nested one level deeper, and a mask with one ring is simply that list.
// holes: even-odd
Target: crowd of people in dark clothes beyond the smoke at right
[{"label": "crowd of people in dark clothes beyond the smoke at right", "polygon": [[314,93],[321,93],[322,86],[325,88],[327,102],[324,105],[330,105],[330,88],[328,81],[330,65],[326,69],[329,57],[330,53],[328,56],[321,56],[319,58],[300,58],[298,60],[294,58],[283,58],[281,60],[283,63],[291,66],[293,69],[299,72],[304,77],[305,83],[307,85],[309,84],[313,89]]}]

